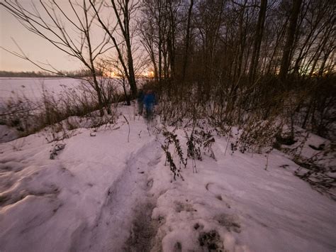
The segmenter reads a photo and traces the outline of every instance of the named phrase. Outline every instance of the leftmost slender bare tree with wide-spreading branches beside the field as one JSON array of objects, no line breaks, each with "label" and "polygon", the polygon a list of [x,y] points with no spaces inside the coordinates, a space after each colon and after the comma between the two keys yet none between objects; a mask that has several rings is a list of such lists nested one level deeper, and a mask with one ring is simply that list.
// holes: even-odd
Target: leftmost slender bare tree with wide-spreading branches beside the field
[{"label": "leftmost slender bare tree with wide-spreading branches beside the field", "polygon": [[[58,4],[55,0],[41,0],[39,4],[32,3],[30,9],[19,1],[5,0],[0,5],[15,16],[28,31],[44,38],[58,50],[82,62],[84,67],[89,70],[92,79],[88,81],[96,91],[102,115],[103,106],[106,104],[103,103],[101,87],[97,80],[96,60],[110,50],[111,45],[108,35],[97,36],[93,34],[96,17],[95,13],[91,11],[91,6],[86,6],[85,0],[81,4],[77,1],[67,1],[66,6]],[[30,60],[23,52],[16,53],[16,55]],[[62,72],[55,70],[55,68],[45,69],[38,63],[33,63],[43,70],[62,75]]]}]

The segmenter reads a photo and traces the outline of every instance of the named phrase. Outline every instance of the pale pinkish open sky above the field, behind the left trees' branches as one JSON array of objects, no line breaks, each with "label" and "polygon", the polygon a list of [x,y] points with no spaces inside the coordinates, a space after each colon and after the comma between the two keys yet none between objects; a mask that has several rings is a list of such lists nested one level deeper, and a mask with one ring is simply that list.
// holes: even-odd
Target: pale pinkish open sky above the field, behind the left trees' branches
[{"label": "pale pinkish open sky above the field, behind the left trees' branches", "polygon": [[[39,13],[41,16],[43,16],[43,19],[47,21],[47,23],[51,23],[50,18],[47,18],[47,14],[43,10],[43,7],[40,5],[38,0],[23,0],[18,2],[22,4],[25,10],[30,12],[33,12],[32,6],[35,4],[36,9],[39,10]],[[71,3],[74,4],[74,9],[76,9],[77,15],[83,21],[82,5],[77,5],[77,3],[79,3],[78,1],[72,1]],[[77,20],[76,14],[69,5],[69,1],[60,0],[57,1],[57,4],[60,6],[62,11],[65,12],[65,15],[67,15],[71,21],[74,21],[74,23],[79,26],[79,21]],[[55,5],[53,6],[55,7]],[[89,11],[89,16],[92,14],[91,11]],[[78,29],[74,28],[73,23],[67,21],[67,18],[65,18],[65,16],[63,16],[60,11],[56,11],[56,13],[57,20],[62,22],[62,26],[65,26],[69,37],[78,46],[77,41],[82,39],[82,33],[79,33]],[[107,26],[112,28],[116,26],[116,16],[113,15],[111,8],[101,8],[99,10],[99,16]],[[40,36],[36,35],[35,33],[28,31],[27,28],[25,28],[14,16],[11,15],[11,13],[6,11],[4,6],[1,5],[0,21],[0,71],[40,71],[40,68],[33,65],[32,62],[23,60],[20,57],[17,57],[8,52],[16,52],[22,55],[21,50],[30,58],[30,60],[33,60],[33,62],[38,62],[39,65],[42,65],[43,67],[47,66],[43,64],[48,64],[51,65],[52,68],[59,71],[82,69],[82,62],[79,62],[77,58],[67,55],[66,53],[62,52],[62,50],[56,48],[55,45],[52,45],[48,40],[40,38]],[[103,41],[105,35],[106,32],[103,31],[103,29],[100,27],[100,24],[94,21],[90,28],[91,47],[96,48],[97,46],[102,45],[101,42]],[[49,36],[50,33],[47,35],[47,37]],[[120,39],[119,33],[114,33],[114,36],[116,37],[117,41]],[[109,46],[111,45],[107,45],[106,47]],[[104,47],[104,49],[106,49],[106,47]],[[84,46],[84,51],[85,48],[86,47]],[[95,52],[98,51],[99,50],[96,50]],[[116,57],[116,50],[112,49],[107,53],[111,57]],[[106,55],[106,53],[104,55]],[[51,67],[46,68],[52,69]]]}]

